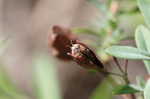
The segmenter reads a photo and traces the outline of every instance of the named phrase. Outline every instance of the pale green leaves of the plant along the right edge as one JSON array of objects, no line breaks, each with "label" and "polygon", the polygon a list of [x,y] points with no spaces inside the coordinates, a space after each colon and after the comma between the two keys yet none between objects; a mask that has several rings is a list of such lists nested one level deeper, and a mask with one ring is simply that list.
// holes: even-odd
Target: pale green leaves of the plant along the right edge
[{"label": "pale green leaves of the plant along the right edge", "polygon": [[[130,46],[111,46],[105,51],[109,55],[123,58],[123,59],[139,59],[142,60],[147,69],[148,75],[150,73],[150,0],[138,0],[138,5],[140,10],[145,18],[146,26],[140,25],[135,31],[135,41],[137,48]],[[146,58],[147,57],[147,58]],[[143,80],[142,80],[143,81]],[[139,81],[142,83],[142,81]],[[139,89],[140,92],[144,95],[144,99],[150,99],[150,79],[148,78],[146,84],[134,85],[135,89]],[[125,91],[124,89],[123,91]],[[119,91],[120,92],[120,91]],[[130,90],[130,92],[132,92]],[[130,93],[129,92],[129,93]]]}]

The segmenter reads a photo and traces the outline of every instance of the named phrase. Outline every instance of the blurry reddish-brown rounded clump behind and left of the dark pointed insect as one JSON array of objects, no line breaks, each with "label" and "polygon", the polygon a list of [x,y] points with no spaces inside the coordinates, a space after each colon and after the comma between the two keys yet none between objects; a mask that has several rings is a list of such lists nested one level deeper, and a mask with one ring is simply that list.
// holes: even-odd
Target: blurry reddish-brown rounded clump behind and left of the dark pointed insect
[{"label": "blurry reddish-brown rounded clump behind and left of the dark pointed insect", "polygon": [[48,46],[54,56],[61,60],[69,61],[72,57],[67,55],[70,52],[70,40],[77,39],[70,29],[55,25],[52,27],[52,33],[48,37]]}]

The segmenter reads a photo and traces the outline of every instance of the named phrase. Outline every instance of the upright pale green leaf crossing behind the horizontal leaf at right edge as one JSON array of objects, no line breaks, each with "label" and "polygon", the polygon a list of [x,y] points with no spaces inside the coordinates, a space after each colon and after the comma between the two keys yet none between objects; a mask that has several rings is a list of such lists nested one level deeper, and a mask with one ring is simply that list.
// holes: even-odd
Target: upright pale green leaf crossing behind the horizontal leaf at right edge
[{"label": "upright pale green leaf crossing behind the horizontal leaf at right edge", "polygon": [[[136,45],[139,49],[150,52],[150,32],[143,25],[137,27],[135,33]],[[150,73],[150,62],[144,61],[147,71]]]}]

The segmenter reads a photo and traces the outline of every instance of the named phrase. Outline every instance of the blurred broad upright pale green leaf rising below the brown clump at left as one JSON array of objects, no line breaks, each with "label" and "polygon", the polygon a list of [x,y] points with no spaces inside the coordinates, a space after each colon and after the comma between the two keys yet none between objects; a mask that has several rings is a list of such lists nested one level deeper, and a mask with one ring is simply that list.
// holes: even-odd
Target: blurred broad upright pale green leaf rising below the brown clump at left
[{"label": "blurred broad upright pale green leaf rising below the brown clump at left", "polygon": [[61,99],[56,68],[52,60],[46,56],[38,56],[34,71],[39,99]]}]

